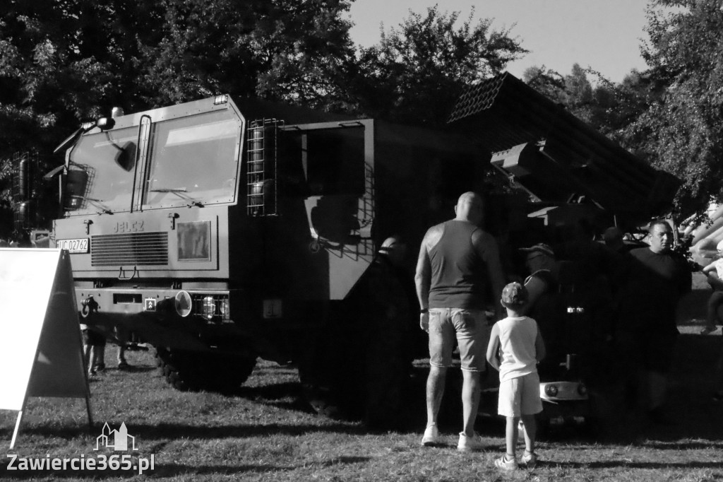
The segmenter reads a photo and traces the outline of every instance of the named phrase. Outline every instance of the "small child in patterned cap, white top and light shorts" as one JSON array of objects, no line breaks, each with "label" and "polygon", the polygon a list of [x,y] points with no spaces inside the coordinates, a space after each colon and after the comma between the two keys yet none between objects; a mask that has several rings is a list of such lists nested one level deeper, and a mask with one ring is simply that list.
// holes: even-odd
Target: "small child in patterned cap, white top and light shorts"
[{"label": "small child in patterned cap, white top and light shorts", "polygon": [[507,418],[507,453],[495,460],[495,465],[504,470],[518,468],[515,444],[522,418],[525,453],[521,462],[531,468],[537,462],[535,414],[542,412],[536,364],[544,358],[544,343],[537,322],[521,313],[527,304],[525,287],[517,282],[508,284],[502,289],[501,301],[507,318],[492,326],[487,345],[487,361],[500,371],[497,413]]}]

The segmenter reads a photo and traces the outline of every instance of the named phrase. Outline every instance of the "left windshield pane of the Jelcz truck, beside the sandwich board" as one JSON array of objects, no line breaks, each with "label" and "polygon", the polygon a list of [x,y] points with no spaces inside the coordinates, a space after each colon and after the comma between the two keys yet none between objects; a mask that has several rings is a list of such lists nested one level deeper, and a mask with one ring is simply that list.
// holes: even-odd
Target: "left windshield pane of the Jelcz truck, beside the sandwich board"
[{"label": "left windshield pane of the Jelcz truck, beside the sandwich board", "polygon": [[128,127],[80,138],[70,156],[68,209],[130,211],[137,137],[138,128]]}]

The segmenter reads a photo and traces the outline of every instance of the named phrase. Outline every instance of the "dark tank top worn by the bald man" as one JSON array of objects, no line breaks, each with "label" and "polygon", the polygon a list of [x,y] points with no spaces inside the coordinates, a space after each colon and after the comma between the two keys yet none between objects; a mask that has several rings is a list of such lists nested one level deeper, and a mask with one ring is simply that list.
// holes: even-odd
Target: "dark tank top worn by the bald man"
[{"label": "dark tank top worn by the bald man", "polygon": [[444,223],[442,238],[429,250],[429,308],[484,309],[486,266],[472,245],[477,229],[468,221]]}]

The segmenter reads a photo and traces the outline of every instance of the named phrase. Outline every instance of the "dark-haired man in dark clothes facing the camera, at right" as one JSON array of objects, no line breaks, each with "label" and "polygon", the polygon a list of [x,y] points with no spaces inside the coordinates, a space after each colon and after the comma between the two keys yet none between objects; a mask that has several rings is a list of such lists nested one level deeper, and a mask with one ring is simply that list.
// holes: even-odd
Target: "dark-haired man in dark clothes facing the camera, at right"
[{"label": "dark-haired man in dark clothes facing the camera, at right", "polygon": [[617,341],[630,363],[630,376],[638,376],[628,379],[628,397],[633,386],[643,384],[651,421],[667,423],[662,406],[679,334],[675,312],[680,297],[690,292],[692,275],[685,259],[672,252],[672,229],[666,221],[651,222],[649,233],[649,248],[630,251],[630,269],[620,290]]}]

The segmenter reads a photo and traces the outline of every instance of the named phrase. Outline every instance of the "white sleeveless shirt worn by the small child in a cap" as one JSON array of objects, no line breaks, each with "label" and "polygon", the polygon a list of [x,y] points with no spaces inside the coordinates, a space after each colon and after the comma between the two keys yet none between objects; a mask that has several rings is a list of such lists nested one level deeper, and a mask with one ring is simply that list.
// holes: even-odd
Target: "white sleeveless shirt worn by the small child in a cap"
[{"label": "white sleeveless shirt worn by the small child in a cap", "polygon": [[537,371],[535,339],[537,322],[529,316],[497,321],[500,329],[500,381]]}]

